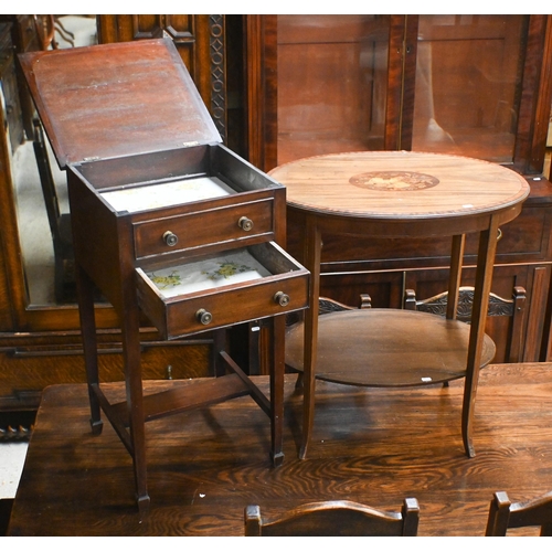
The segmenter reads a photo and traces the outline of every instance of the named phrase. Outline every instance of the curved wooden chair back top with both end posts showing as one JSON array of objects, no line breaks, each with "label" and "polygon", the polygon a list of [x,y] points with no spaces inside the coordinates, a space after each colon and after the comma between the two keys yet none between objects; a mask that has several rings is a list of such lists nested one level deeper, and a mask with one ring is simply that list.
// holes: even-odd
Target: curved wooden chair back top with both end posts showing
[{"label": "curved wooden chair back top with both end posts showing", "polygon": [[348,500],[302,505],[276,519],[263,519],[258,506],[244,512],[246,537],[415,537],[418,518],[415,498],[397,512]]}]

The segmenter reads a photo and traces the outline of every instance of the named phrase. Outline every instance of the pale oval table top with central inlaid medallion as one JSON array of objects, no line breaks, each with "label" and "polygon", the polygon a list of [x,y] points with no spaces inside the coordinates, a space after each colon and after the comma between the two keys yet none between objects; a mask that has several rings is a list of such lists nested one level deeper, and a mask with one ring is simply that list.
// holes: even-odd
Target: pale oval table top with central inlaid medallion
[{"label": "pale oval table top with central inlaid medallion", "polygon": [[521,203],[523,177],[489,161],[413,151],[309,157],[276,167],[291,208],[384,220],[477,216]]}]

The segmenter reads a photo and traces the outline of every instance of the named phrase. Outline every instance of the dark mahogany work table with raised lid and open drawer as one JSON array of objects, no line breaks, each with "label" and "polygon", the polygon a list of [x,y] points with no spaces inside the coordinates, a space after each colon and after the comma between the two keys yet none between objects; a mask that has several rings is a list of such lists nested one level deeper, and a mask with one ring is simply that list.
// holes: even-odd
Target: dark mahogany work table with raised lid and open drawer
[{"label": "dark mahogany work table with raised lid and open drawer", "polygon": [[[23,72],[67,188],[94,434],[102,413],[132,458],[149,508],[145,423],[251,395],[283,461],[285,315],[307,307],[307,270],[285,241],[285,189],[221,144],[170,39],[34,52]],[[95,289],[120,322],[126,397],[104,391]],[[266,396],[229,355],[225,329],[268,332]],[[140,327],[213,333],[213,374],[145,394]]]}]

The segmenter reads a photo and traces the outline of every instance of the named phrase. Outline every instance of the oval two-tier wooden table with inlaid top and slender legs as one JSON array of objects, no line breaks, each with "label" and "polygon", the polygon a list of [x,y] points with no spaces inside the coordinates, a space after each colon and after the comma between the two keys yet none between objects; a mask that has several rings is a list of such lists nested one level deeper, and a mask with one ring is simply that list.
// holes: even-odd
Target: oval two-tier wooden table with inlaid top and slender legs
[{"label": "oval two-tier wooden table with inlaid top and slender legs", "polygon": [[[312,432],[316,378],[365,386],[427,385],[465,378],[461,433],[475,456],[479,370],[495,354],[485,333],[499,225],[513,220],[529,184],[512,170],[459,156],[363,151],[299,159],[269,173],[287,189],[300,222],[310,308],[286,338],[286,363],[304,372],[299,456]],[[347,236],[452,236],[446,318],[401,309],[353,309],[318,317],[325,233]],[[479,233],[471,323],[456,320],[465,235]]]}]

